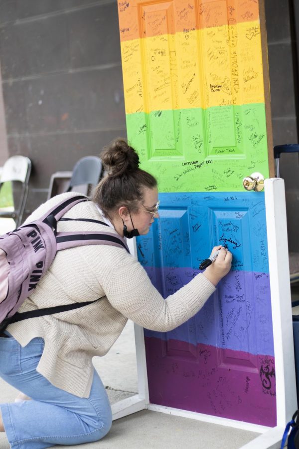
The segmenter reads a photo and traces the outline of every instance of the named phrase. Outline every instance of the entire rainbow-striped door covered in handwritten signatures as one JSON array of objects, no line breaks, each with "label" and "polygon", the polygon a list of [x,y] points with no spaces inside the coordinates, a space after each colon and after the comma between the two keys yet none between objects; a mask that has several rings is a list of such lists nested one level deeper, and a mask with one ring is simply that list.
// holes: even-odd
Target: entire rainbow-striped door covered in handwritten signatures
[{"label": "entire rainbow-striped door covered in handwritten signatures", "polygon": [[145,330],[153,404],[276,425],[265,199],[269,177],[258,0],[120,1],[128,139],[158,179],[160,219],[138,257],[167,297],[227,244],[232,271],[188,322]]}]

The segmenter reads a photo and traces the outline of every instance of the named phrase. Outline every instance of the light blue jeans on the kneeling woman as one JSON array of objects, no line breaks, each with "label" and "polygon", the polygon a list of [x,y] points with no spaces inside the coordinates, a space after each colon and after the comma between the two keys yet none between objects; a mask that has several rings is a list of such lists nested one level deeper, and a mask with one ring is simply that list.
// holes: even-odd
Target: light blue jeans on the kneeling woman
[{"label": "light blue jeans on the kneeling woman", "polygon": [[0,377],[32,398],[0,404],[10,447],[42,449],[100,440],[111,428],[112,413],[97,372],[89,398],[67,393],[36,371],[43,348],[41,338],[22,348],[13,337],[0,337]]}]

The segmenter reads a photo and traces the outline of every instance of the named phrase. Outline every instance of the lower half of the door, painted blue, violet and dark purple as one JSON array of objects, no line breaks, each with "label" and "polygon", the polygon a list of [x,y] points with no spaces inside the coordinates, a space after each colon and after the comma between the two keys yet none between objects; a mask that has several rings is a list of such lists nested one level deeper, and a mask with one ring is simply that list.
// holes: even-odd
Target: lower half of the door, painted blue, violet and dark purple
[{"label": "lower half of the door, painted blue, violet and dark purple", "polygon": [[195,317],[170,332],[145,330],[151,403],[276,423],[264,194],[160,194],[160,219],[138,257],[167,297],[199,272],[218,242],[233,269]]}]

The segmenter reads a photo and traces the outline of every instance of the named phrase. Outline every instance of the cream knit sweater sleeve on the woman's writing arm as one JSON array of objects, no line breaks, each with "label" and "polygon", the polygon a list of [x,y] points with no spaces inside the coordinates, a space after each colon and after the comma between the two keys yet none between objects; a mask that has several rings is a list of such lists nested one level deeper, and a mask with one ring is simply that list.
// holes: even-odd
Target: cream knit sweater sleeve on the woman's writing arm
[{"label": "cream knit sweater sleeve on the woman's writing arm", "polygon": [[215,291],[205,276],[197,274],[164,300],[140,262],[130,255],[126,263],[111,267],[103,288],[110,303],[124,316],[142,327],[160,332],[187,321]]}]

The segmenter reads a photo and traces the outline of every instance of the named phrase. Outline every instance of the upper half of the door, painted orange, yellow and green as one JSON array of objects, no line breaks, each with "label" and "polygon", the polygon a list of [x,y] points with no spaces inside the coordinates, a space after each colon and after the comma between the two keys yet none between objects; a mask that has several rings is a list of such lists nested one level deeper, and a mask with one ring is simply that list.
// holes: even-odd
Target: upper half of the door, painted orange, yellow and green
[{"label": "upper half of the door, painted orange, yellow and green", "polygon": [[269,177],[258,3],[135,0],[119,16],[128,136],[160,191]]}]

